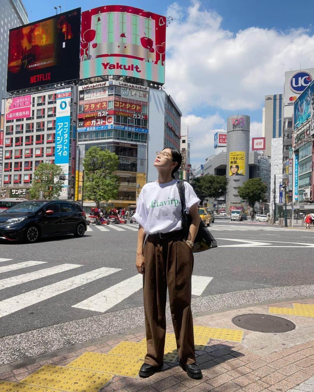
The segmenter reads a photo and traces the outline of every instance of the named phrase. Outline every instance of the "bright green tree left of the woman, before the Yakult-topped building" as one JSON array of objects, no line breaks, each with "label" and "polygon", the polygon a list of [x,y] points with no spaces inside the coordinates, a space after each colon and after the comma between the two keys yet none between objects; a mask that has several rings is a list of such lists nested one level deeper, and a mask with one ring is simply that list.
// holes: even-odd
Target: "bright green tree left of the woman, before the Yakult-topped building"
[{"label": "bright green tree left of the woman, before the Yakult-topped building", "polygon": [[119,177],[112,173],[117,170],[118,156],[109,150],[91,147],[85,153],[83,160],[85,181],[84,200],[95,201],[99,208],[101,201],[117,199]]}]

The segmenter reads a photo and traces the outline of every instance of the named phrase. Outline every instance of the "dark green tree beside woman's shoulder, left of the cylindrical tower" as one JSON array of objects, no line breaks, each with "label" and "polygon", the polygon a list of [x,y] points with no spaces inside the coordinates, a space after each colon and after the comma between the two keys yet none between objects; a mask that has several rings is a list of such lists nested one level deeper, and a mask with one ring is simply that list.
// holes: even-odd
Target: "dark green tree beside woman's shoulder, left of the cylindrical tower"
[{"label": "dark green tree beside woman's shoulder, left of the cylindrical tower", "polygon": [[203,203],[205,198],[217,199],[224,196],[227,191],[228,181],[226,176],[207,174],[203,177],[195,177],[192,181],[192,187],[201,203]]}]

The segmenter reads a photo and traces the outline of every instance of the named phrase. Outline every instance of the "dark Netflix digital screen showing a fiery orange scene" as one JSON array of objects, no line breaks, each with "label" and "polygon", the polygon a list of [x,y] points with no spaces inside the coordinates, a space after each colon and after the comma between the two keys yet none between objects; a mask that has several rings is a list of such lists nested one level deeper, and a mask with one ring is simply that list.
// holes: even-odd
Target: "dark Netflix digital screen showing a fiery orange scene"
[{"label": "dark Netflix digital screen showing a fiery orange scene", "polygon": [[81,9],[9,32],[7,91],[79,78]]}]

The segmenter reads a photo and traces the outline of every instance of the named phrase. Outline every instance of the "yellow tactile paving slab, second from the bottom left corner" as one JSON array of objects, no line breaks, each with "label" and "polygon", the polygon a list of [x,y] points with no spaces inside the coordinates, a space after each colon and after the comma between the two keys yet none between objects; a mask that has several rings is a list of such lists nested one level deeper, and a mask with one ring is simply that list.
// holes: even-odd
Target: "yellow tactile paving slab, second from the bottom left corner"
[{"label": "yellow tactile paving slab, second from the bottom left corner", "polygon": [[[36,388],[50,388],[65,392],[91,392],[103,388],[113,377],[112,374],[71,367],[44,365],[20,381]],[[41,389],[38,391],[41,391]]]}]

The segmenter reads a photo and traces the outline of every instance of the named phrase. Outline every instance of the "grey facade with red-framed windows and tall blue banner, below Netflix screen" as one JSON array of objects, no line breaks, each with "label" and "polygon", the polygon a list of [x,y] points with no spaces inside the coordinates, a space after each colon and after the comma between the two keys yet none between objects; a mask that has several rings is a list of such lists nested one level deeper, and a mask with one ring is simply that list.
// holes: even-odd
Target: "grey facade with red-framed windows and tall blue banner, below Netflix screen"
[{"label": "grey facade with red-framed windows and tall blue banner, below Netflix screen", "polygon": [[[11,101],[23,102],[23,110],[10,110]],[[75,85],[15,95],[2,101],[5,108],[2,196],[14,197],[12,190],[19,188],[25,190],[25,196],[35,169],[44,162],[62,166],[66,180],[60,198],[73,197],[76,101]],[[65,109],[63,102],[67,102]]]}]

